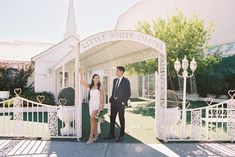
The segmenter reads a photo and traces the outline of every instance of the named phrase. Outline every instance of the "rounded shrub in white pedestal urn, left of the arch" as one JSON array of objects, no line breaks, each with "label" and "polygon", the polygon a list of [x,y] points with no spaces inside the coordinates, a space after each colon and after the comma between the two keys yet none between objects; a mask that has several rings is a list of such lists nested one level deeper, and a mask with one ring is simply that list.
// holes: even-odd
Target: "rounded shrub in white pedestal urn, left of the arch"
[{"label": "rounded shrub in white pedestal urn, left of the arch", "polygon": [[71,87],[64,88],[58,95],[58,103],[60,104],[57,115],[64,122],[65,126],[60,129],[62,135],[70,135],[75,133],[71,127],[74,126],[75,110],[69,106],[74,106],[75,90]]}]

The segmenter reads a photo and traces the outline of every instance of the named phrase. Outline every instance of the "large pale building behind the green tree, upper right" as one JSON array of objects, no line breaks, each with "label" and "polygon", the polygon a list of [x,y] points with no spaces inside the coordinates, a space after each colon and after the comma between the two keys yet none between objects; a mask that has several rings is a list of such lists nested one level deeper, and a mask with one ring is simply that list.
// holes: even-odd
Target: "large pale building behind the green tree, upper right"
[{"label": "large pale building behind the green tree, upper right", "polygon": [[215,32],[206,54],[221,51],[222,55],[235,54],[235,1],[234,0],[140,0],[119,16],[116,30],[135,30],[138,21],[152,22],[156,18],[170,18],[178,10],[185,16],[197,15],[205,23],[214,23]]}]

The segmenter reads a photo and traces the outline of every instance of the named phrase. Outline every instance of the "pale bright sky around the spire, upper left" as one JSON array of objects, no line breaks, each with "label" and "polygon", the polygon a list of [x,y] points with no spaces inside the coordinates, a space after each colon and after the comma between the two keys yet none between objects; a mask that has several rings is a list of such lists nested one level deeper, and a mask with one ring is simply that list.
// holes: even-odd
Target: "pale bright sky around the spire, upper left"
[{"label": "pale bright sky around the spire, upper left", "polygon": [[[112,30],[118,16],[139,0],[74,0],[80,39]],[[63,40],[69,0],[1,0],[0,41]]]}]

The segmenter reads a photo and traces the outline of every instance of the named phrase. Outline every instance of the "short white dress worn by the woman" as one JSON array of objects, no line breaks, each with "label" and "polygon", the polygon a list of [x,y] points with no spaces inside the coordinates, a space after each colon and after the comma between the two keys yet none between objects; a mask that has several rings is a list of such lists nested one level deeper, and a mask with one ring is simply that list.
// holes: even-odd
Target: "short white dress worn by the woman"
[{"label": "short white dress worn by the woman", "polygon": [[[90,90],[90,100],[89,100],[89,112],[90,115],[94,110],[100,109],[100,90],[99,89],[91,89]],[[97,124],[97,132],[101,133],[100,123]]]}]

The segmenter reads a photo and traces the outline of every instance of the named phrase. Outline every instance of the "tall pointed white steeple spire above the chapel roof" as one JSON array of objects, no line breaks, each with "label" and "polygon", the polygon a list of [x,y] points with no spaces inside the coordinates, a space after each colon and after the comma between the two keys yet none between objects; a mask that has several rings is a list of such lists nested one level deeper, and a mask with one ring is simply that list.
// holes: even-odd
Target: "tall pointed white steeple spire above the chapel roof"
[{"label": "tall pointed white steeple spire above the chapel roof", "polygon": [[64,33],[64,39],[71,36],[77,37],[79,39],[79,36],[77,34],[75,16],[74,16],[73,0],[69,0],[68,19],[67,19],[66,30]]}]

